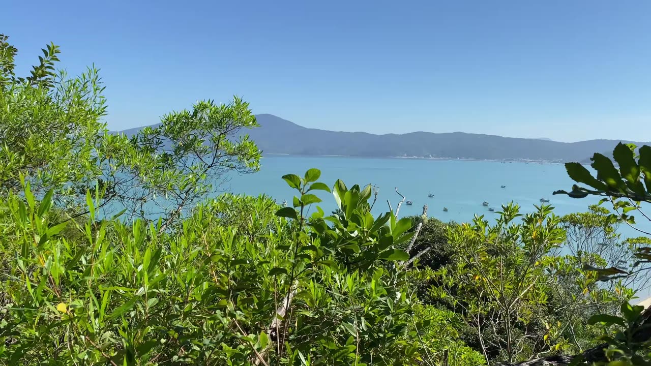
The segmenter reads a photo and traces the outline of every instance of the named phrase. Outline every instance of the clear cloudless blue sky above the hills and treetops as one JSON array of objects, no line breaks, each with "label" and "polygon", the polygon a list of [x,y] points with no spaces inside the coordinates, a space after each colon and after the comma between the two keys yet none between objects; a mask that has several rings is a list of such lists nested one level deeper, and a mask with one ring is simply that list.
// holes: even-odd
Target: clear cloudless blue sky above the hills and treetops
[{"label": "clear cloudless blue sky above the hills and treetops", "polygon": [[96,64],[111,129],[199,99],[313,128],[651,140],[649,1],[8,1],[20,70]]}]

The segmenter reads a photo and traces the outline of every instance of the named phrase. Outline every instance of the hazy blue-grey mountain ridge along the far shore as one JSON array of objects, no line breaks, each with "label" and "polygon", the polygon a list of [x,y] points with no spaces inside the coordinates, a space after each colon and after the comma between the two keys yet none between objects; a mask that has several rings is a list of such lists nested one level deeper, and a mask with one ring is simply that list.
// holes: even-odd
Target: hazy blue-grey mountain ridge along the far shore
[{"label": "hazy blue-grey mountain ridge along the far shore", "polygon": [[[562,143],[548,139],[521,139],[464,132],[374,135],[367,132],[305,128],[269,114],[256,117],[260,127],[245,132],[266,154],[582,162],[594,152],[612,151],[619,142],[600,139]],[[121,132],[132,135],[138,130],[140,128]]]}]

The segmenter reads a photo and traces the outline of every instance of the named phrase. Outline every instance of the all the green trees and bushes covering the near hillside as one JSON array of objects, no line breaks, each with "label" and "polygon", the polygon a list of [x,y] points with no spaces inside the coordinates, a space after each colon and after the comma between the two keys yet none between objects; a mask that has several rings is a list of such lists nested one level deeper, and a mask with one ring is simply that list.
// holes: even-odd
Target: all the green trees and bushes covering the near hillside
[{"label": "all the green trees and bushes covering the near hillside", "polygon": [[55,72],[50,45],[19,77],[16,52],[0,36],[0,365],[649,362],[651,313],[629,302],[650,243],[616,229],[651,202],[651,148],[618,145],[619,171],[595,154],[596,178],[568,164],[591,188],[567,194],[614,213],[373,216],[371,186],[318,169],[282,177],[290,207],[214,197],[259,167],[248,104],[109,134],[97,70]]}]

